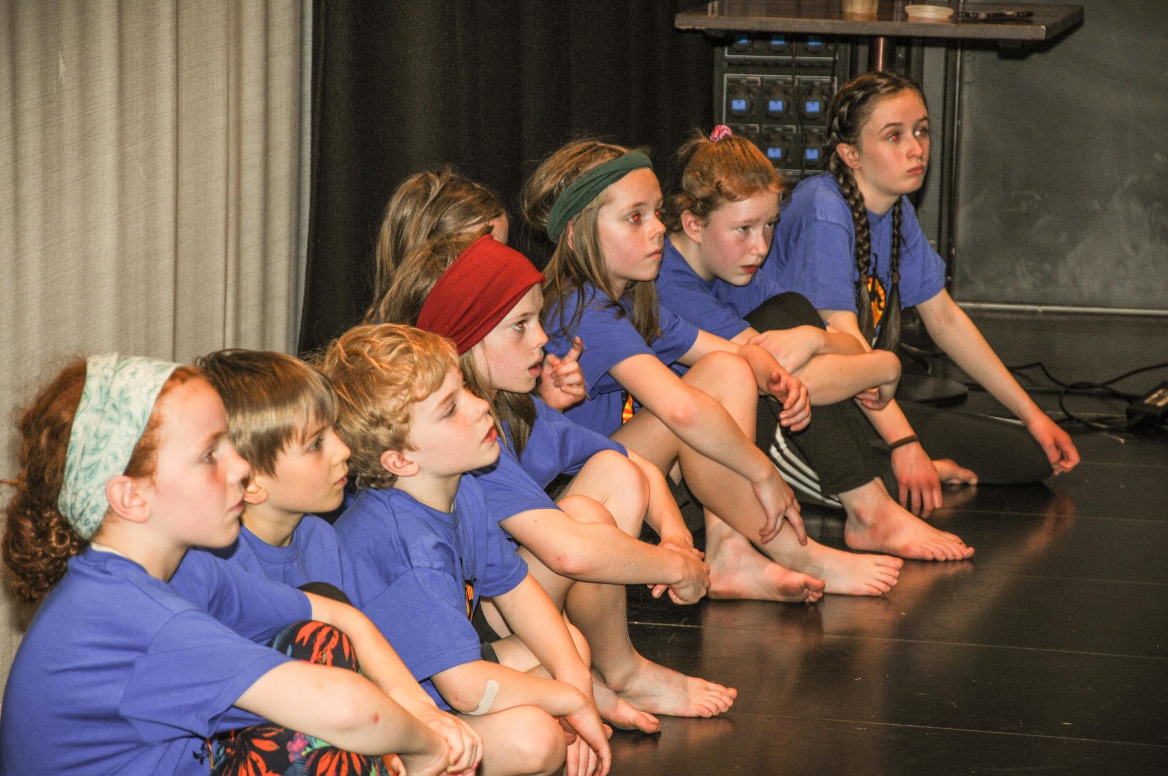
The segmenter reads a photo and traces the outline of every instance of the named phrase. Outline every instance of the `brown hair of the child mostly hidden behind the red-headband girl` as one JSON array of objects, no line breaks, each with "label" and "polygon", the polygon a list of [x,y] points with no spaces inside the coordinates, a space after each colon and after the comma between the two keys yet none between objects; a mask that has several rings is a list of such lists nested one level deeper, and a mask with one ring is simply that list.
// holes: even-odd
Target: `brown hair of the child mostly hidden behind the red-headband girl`
[{"label": "brown hair of the child mostly hidden behind the red-headband girl", "polygon": [[494,192],[450,167],[410,175],[394,192],[381,220],[374,299],[389,289],[406,254],[425,241],[463,231],[481,233],[488,221],[502,215],[507,215],[507,209]]}]

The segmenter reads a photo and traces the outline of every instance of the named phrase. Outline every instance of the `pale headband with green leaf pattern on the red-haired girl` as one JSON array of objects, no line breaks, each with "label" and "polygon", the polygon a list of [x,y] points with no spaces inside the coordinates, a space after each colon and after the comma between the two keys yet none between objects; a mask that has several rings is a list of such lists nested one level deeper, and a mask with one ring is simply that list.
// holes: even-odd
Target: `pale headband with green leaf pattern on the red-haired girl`
[{"label": "pale headband with green leaf pattern on the red-haired girl", "polygon": [[117,353],[85,361],[85,387],[69,432],[57,508],[89,539],[110,503],[105,486],[126,471],[162,386],[178,363]]}]

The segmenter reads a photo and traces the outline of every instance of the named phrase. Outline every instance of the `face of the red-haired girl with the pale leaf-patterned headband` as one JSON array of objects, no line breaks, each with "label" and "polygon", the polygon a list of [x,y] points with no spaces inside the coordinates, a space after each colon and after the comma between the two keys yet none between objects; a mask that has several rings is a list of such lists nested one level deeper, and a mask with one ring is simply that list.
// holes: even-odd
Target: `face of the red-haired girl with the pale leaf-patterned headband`
[{"label": "face of the red-haired girl with the pale leaf-patterned headband", "polygon": [[227,413],[206,380],[167,393],[158,410],[158,470],[145,481],[152,519],[182,547],[225,547],[239,534],[250,471],[227,437]]}]

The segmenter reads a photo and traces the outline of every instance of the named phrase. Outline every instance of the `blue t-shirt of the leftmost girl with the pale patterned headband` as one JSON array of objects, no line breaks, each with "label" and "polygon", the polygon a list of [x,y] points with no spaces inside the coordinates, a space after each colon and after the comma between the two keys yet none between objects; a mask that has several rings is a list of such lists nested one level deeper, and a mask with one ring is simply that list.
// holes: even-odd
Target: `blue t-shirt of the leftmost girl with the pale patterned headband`
[{"label": "blue t-shirt of the leftmost girl with the pale patterned headband", "polygon": [[16,652],[0,774],[208,772],[203,739],[263,722],[232,704],[291,659],[257,642],[310,616],[299,590],[208,553],[187,553],[167,584],[86,549]]}]

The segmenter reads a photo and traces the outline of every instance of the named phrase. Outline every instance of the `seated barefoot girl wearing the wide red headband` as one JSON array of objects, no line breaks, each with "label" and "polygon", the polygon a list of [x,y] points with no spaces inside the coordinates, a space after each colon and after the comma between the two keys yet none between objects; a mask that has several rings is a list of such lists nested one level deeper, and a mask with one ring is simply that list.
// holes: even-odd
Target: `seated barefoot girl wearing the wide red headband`
[{"label": "seated barefoot girl wearing the wide red headband", "polygon": [[[588,639],[603,683],[593,691],[602,716],[655,732],[653,714],[725,712],[732,688],[652,663],[630,640],[625,584],[694,603],[709,571],[661,472],[534,395],[545,362],[542,279],[527,257],[489,236],[438,237],[398,264],[375,317],[454,340],[466,382],[489,402],[502,443],[499,463],[475,472],[477,480],[531,574]],[[557,503],[544,487],[561,474],[570,481]],[[660,546],[638,540],[644,520]],[[491,630],[509,633],[493,604],[481,611]]]}]

